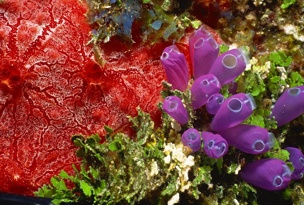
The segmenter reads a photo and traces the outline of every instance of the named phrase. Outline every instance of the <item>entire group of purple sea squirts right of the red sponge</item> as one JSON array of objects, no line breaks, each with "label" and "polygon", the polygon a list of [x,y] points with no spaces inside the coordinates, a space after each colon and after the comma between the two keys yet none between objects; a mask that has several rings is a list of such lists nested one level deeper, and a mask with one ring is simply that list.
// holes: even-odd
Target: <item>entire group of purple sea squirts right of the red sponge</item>
[{"label": "entire group of purple sea squirts right of the red sponge", "polygon": [[[243,152],[260,154],[275,146],[275,136],[267,129],[256,125],[240,124],[256,108],[250,93],[238,93],[228,99],[219,94],[222,85],[228,83],[230,93],[236,92],[236,82],[249,62],[248,54],[242,48],[229,50],[219,56],[219,45],[206,26],[201,26],[189,37],[189,49],[193,67],[194,83],[190,88],[192,109],[206,104],[206,110],[214,115],[211,129],[215,132],[199,132],[194,128],[186,130],[182,143],[193,152],[201,149],[207,156],[221,158],[228,151],[228,144]],[[188,66],[184,54],[176,45],[165,48],[161,63],[168,82],[173,89],[185,92],[188,86]],[[168,96],[164,99],[163,109],[180,124],[189,121],[187,110],[181,99]],[[285,124],[304,113],[304,85],[287,89],[277,100],[271,117],[278,126]],[[297,148],[285,148],[290,153],[288,162],[295,168],[276,158],[261,159],[248,163],[239,176],[254,186],[275,191],[288,187],[291,179],[301,179],[304,173],[304,156]],[[192,153],[193,153],[192,152]]]}]

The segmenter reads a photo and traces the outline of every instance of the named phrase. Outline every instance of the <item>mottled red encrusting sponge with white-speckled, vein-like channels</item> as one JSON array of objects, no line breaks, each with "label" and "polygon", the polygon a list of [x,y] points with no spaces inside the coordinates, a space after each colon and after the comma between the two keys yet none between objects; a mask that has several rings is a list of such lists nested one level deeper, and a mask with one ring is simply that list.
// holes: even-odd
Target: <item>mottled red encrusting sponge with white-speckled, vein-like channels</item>
[{"label": "mottled red encrusting sponge with white-speckled, vein-like channels", "polygon": [[[0,4],[0,191],[32,194],[79,164],[72,134],[130,133],[136,107],[160,123],[158,61],[164,45],[133,52],[113,40],[99,67],[77,0]],[[96,72],[98,71],[98,72]],[[158,120],[157,120],[158,119]]]}]

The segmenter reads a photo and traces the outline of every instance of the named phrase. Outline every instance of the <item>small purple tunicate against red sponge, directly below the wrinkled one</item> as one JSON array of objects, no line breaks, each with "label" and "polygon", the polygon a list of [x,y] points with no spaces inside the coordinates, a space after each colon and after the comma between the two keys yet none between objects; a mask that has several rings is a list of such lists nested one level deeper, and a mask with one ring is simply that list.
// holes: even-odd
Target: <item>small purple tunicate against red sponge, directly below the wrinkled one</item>
[{"label": "small purple tunicate against red sponge, directly below the wrinkled one", "polygon": [[188,113],[181,99],[176,96],[168,96],[163,102],[164,111],[180,124],[188,123]]}]

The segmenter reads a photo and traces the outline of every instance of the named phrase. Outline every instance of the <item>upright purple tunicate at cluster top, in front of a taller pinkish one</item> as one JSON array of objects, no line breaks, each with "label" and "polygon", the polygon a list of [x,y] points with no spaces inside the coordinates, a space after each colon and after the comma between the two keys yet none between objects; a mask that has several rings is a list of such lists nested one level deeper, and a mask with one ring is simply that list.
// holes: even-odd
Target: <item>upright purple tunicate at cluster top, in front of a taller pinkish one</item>
[{"label": "upright purple tunicate at cluster top, in front of a taller pinkish one", "polygon": [[219,45],[214,35],[197,39],[194,43],[194,62],[192,62],[194,79],[207,75],[218,56]]}]

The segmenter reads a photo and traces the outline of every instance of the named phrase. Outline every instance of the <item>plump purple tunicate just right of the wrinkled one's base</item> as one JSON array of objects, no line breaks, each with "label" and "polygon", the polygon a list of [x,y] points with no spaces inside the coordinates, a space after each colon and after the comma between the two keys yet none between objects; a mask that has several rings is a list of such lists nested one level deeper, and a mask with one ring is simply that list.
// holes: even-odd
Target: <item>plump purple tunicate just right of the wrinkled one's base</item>
[{"label": "plump purple tunicate just right of the wrinkled one's base", "polygon": [[190,88],[193,109],[198,109],[205,105],[210,96],[218,93],[220,89],[221,84],[213,74],[203,75],[197,78]]}]

